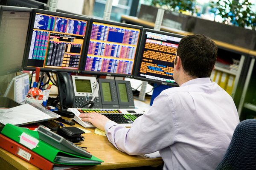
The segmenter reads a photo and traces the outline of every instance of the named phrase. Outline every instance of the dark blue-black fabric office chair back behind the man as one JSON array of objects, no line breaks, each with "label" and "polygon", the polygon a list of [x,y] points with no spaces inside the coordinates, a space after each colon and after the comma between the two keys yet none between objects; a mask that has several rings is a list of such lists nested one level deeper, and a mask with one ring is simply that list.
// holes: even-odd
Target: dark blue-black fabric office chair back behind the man
[{"label": "dark blue-black fabric office chair back behind the man", "polygon": [[216,170],[256,170],[256,119],[240,122]]}]

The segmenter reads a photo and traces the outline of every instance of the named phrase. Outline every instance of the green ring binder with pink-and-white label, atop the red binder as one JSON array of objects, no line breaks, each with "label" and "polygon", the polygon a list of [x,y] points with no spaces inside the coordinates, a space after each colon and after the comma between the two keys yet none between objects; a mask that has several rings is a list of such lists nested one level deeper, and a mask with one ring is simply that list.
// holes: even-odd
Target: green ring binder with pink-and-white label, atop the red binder
[{"label": "green ring binder with pink-and-white label, atop the red binder", "polygon": [[95,156],[86,158],[58,150],[50,144],[40,140],[37,131],[25,129],[23,127],[6,124],[1,133],[55,164],[96,165],[103,162]]}]

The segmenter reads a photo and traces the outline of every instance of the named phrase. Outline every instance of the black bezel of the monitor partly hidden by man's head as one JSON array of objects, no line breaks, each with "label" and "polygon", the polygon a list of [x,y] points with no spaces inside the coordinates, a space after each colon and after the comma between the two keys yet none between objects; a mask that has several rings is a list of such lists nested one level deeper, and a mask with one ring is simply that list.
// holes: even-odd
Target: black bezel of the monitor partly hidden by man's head
[{"label": "black bezel of the monitor partly hidden by man's head", "polygon": [[138,57],[136,60],[136,65],[135,65],[135,71],[134,71],[134,79],[138,79],[138,80],[142,80],[142,81],[146,81],[146,82],[152,82],[152,83],[157,83],[160,85],[169,85],[172,87],[178,87],[179,85],[176,82],[163,82],[160,80],[154,80],[154,79],[148,79],[148,78],[144,78],[144,77],[140,77],[138,76],[139,74],[139,70],[140,70],[140,62],[141,62],[141,58],[143,56],[143,48],[145,45],[145,38],[146,38],[146,32],[152,32],[152,33],[156,33],[156,34],[163,34],[163,35],[168,35],[168,36],[172,36],[172,37],[178,37],[178,38],[183,38],[185,37],[184,35],[180,35],[180,34],[174,34],[174,33],[170,33],[170,32],[166,32],[166,31],[157,31],[154,29],[150,29],[150,28],[143,28],[143,33],[142,33],[142,37],[141,37],[141,41],[140,41],[140,49],[139,49],[139,53],[138,53]]}]

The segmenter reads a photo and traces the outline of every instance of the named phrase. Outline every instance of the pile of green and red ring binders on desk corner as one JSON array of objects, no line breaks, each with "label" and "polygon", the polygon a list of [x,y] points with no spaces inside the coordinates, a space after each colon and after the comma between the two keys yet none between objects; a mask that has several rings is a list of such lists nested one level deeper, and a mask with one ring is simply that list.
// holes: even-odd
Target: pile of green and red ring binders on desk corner
[{"label": "pile of green and red ring binders on desk corner", "polygon": [[39,139],[37,131],[6,124],[0,134],[0,147],[42,170],[52,170],[57,165],[96,165],[103,161],[67,153]]}]

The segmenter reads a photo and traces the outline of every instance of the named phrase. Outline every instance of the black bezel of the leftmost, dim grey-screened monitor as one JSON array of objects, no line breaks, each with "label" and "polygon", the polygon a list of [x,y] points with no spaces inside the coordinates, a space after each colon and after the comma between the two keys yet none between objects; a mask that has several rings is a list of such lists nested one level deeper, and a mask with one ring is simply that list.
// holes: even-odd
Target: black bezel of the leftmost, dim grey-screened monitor
[{"label": "black bezel of the leftmost, dim grey-screened monitor", "polygon": [[[24,56],[26,54],[27,41],[28,41],[28,37],[29,37],[29,29],[30,29],[30,25],[31,25],[31,18],[32,18],[33,10],[31,8],[26,8],[26,7],[0,6],[0,27],[1,27],[2,17],[3,17],[3,11],[30,12],[29,25],[28,25],[28,31],[27,31],[27,36],[26,36],[26,43],[25,43],[24,53],[23,53],[23,58],[24,58]],[[0,71],[0,76],[17,73],[19,71],[23,71],[23,60],[22,60],[20,67],[18,67],[18,68]]]}]

